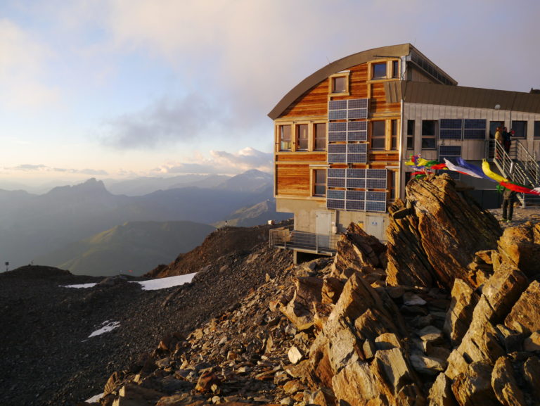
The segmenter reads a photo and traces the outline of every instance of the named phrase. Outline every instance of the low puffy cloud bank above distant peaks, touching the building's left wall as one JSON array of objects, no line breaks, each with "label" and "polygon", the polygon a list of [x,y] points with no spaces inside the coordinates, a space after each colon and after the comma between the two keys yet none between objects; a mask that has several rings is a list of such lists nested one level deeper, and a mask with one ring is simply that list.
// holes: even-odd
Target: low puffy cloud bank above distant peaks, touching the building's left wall
[{"label": "low puffy cloud bank above distant peaks, touching the building's left wall", "polygon": [[243,148],[236,153],[226,151],[210,151],[210,158],[200,154],[192,158],[192,162],[167,163],[154,170],[160,174],[202,173],[233,175],[251,169],[271,172],[273,156],[271,153],[257,151],[254,148]]}]

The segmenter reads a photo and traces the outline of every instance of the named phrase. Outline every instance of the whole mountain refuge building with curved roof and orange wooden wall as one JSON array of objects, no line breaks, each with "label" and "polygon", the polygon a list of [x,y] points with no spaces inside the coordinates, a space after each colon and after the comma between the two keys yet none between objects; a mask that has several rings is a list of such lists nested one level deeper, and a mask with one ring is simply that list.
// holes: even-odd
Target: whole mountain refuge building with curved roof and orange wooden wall
[{"label": "whole mountain refuge building with curved roof and orange wooden wall", "polygon": [[[413,155],[485,158],[519,184],[538,186],[540,91],[460,87],[411,44],[383,46],[329,63],[288,91],[274,120],[274,196],[294,213],[274,246],[332,255],[351,222],[385,241],[387,208],[404,198]],[[514,130],[510,151],[494,139]],[[499,205],[494,183],[451,172],[484,208]],[[520,196],[524,204],[528,196]]]}]

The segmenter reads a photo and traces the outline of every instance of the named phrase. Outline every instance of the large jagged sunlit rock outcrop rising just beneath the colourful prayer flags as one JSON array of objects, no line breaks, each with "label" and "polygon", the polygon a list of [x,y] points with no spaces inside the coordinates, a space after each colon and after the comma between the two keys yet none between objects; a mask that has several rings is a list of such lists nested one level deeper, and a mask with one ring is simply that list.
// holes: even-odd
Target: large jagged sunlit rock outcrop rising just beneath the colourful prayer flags
[{"label": "large jagged sunlit rock outcrop rising just beneath the colourful prayer flags", "polygon": [[475,253],[496,248],[502,234],[495,217],[448,175],[411,179],[406,196],[390,208],[388,284],[451,289],[456,278],[469,281]]}]

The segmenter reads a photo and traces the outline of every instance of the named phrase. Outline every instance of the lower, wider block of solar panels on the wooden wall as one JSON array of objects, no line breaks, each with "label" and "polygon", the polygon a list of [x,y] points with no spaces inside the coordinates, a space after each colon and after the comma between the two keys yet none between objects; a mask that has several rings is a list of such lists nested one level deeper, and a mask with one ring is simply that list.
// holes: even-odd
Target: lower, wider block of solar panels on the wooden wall
[{"label": "lower, wider block of solar panels on the wooden wall", "polygon": [[[386,191],[351,189],[386,189],[386,179],[385,169],[330,168],[327,174],[326,207],[340,210],[385,212]],[[342,189],[330,189],[338,187]]]}]

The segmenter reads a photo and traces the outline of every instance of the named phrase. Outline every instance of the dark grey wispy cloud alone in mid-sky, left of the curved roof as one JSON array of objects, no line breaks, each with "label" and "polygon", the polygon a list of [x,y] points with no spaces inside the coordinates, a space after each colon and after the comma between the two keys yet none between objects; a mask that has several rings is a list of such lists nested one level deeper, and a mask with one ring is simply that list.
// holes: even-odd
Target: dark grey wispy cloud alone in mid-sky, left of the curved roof
[{"label": "dark grey wispy cloud alone in mid-sky, left of the curved roof", "polygon": [[139,113],[105,122],[101,142],[119,149],[143,149],[193,141],[226,121],[224,110],[197,94],[184,99],[161,99]]}]

